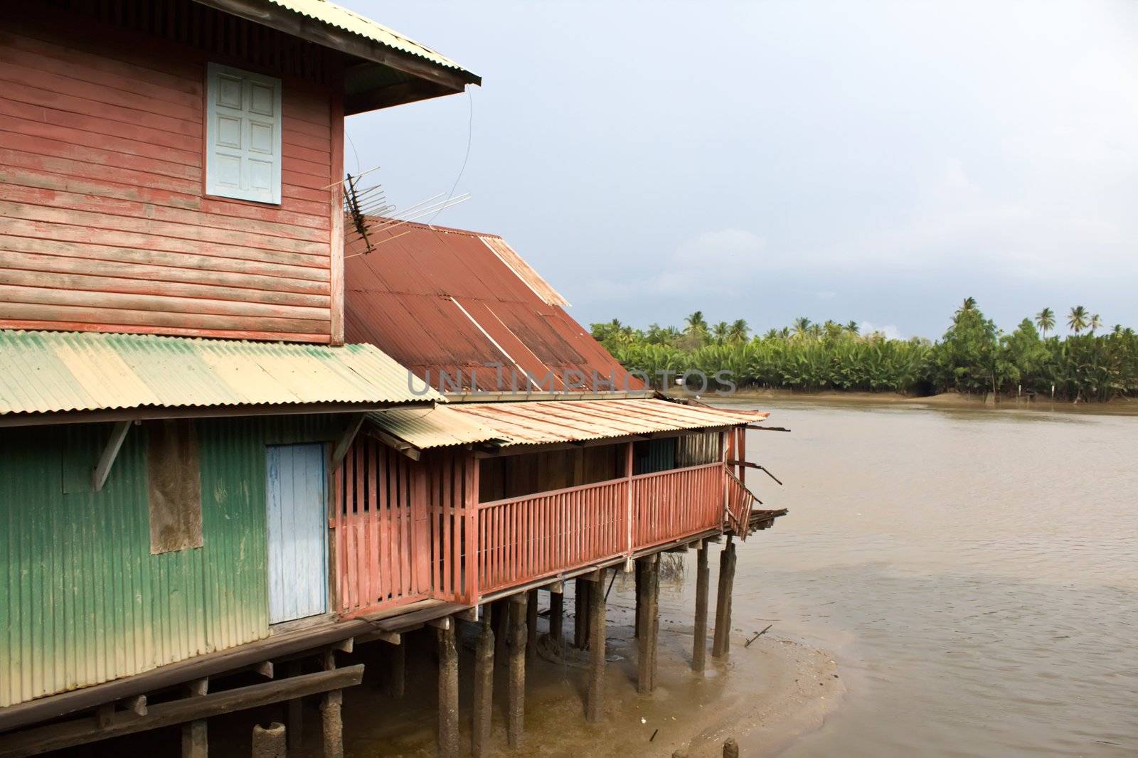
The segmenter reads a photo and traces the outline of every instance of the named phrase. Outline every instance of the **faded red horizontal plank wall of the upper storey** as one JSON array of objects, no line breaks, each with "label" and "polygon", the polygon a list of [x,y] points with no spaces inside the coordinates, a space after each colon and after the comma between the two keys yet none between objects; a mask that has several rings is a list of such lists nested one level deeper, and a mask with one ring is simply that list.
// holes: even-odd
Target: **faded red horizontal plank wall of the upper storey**
[{"label": "faded red horizontal plank wall of the upper storey", "polygon": [[67,28],[0,20],[0,327],[329,341],[330,90],[283,79],[280,206],[206,197],[211,56]]}]

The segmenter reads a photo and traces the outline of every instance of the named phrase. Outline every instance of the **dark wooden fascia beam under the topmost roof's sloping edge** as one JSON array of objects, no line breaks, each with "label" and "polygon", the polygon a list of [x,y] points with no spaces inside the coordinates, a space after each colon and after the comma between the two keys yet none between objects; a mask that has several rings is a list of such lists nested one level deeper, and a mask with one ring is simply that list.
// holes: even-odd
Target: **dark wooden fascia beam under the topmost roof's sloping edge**
[{"label": "dark wooden fascia beam under the topmost roof's sloping edge", "polygon": [[204,6],[239,16],[278,32],[298,36],[356,58],[382,64],[418,79],[443,84],[461,92],[467,84],[481,84],[481,77],[460,69],[431,63],[422,56],[389,48],[381,42],[323,24],[302,14],[286,10],[265,0],[196,0]]}]

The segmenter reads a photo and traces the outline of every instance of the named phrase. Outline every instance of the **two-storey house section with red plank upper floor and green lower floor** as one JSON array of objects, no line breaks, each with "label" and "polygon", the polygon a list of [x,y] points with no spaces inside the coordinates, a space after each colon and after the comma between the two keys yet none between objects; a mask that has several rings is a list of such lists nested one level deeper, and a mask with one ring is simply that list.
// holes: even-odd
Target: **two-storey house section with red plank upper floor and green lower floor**
[{"label": "two-storey house section with red plank upper floor and green lower floor", "polygon": [[358,682],[272,658],[360,631],[333,471],[443,398],[344,345],[344,118],[478,82],[323,0],[3,3],[0,755],[201,756],[208,715]]}]

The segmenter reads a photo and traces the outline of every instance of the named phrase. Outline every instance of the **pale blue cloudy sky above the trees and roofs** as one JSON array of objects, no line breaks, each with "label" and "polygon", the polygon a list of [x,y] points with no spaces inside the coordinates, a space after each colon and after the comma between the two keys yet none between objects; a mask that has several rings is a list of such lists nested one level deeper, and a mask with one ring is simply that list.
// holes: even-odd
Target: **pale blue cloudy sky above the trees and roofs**
[{"label": "pale blue cloudy sky above the trees and roofs", "polygon": [[432,222],[582,323],[1138,327],[1138,2],[340,2],[483,76],[349,117],[348,171],[470,192]]}]

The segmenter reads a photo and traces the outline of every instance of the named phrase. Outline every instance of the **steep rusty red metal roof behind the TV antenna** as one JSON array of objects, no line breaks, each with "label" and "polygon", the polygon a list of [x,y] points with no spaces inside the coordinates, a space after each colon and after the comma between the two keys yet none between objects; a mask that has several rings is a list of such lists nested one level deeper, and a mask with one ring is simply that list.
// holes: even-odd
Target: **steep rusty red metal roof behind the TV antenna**
[{"label": "steep rusty red metal roof behind the TV antenna", "polygon": [[501,237],[373,219],[370,253],[353,238],[344,254],[347,341],[376,345],[432,387],[525,392],[530,374],[544,392],[591,393],[594,376],[618,390],[645,389]]}]

